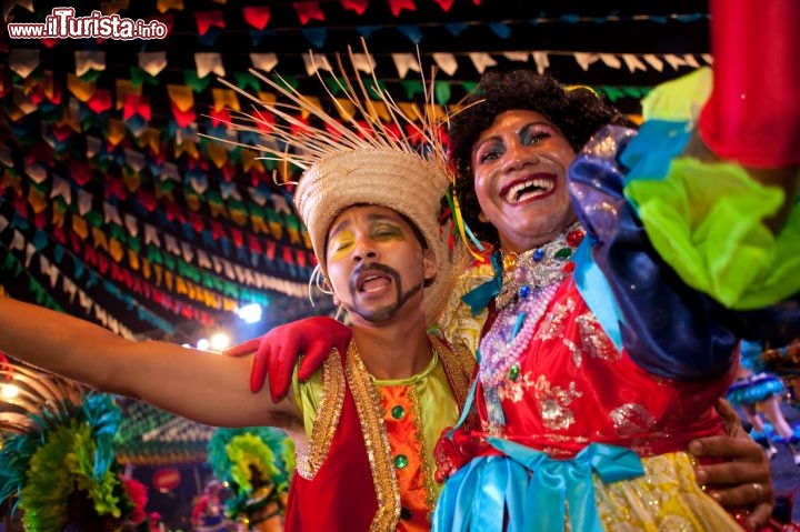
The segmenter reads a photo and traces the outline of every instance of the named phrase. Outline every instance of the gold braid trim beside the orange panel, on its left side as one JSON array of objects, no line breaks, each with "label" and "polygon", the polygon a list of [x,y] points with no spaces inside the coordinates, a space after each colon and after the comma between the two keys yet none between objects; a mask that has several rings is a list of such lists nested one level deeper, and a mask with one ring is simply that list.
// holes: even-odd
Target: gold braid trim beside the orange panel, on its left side
[{"label": "gold braid trim beside the orange panel, on its left side", "polygon": [[394,530],[400,521],[400,488],[394,476],[389,435],[383,424],[381,397],[352,340],[348,345],[344,372],[356,401],[378,498],[378,512],[372,520],[370,531]]}]

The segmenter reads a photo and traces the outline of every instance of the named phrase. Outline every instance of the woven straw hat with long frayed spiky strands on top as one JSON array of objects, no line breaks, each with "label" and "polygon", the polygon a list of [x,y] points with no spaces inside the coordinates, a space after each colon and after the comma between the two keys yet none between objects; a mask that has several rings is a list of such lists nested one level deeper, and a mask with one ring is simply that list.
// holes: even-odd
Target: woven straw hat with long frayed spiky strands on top
[{"label": "woven straw hat with long frayed spiky strands on top", "polygon": [[[276,124],[256,113],[246,116],[251,126],[231,126],[258,132],[264,142],[259,143],[257,149],[304,170],[294,194],[294,203],[319,261],[317,274],[326,272],[328,229],[344,209],[354,204],[387,207],[414,223],[437,261],[437,277],[426,288],[423,299],[427,322],[430,324],[443,310],[456,279],[467,265],[468,257],[461,239],[450,238],[453,232],[452,217],[441,217],[442,198],[453,179],[448,173],[446,150],[434,119],[436,110],[432,103],[426,104],[417,109],[417,116],[407,117],[392,98],[380,89],[374,74],[372,79],[376,83],[370,91],[367,90],[354,68],[354,54],[350,52],[349,57],[353,74],[339,60],[340,90],[337,91],[338,98],[348,99],[349,107],[354,109],[354,112],[339,113],[349,116],[349,120],[328,114],[319,102],[304,98],[289,83],[276,82],[251,70],[253,76],[291,103],[261,101],[222,80],[281,120]],[[314,64],[319,63],[313,57],[311,59]],[[333,71],[330,66],[328,70]],[[331,104],[343,111],[341,101],[332,94]],[[388,112],[388,123],[391,126],[378,119],[378,104]],[[322,122],[322,126],[299,121],[294,114],[297,112],[310,116]],[[413,141],[407,131],[413,135]],[[278,145],[286,148],[278,149]]]}]

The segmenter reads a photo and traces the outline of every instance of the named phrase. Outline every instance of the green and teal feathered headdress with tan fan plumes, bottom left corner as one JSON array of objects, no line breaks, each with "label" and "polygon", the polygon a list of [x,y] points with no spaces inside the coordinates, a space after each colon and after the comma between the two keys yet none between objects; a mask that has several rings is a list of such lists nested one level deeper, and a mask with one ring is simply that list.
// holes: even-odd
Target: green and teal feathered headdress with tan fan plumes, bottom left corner
[{"label": "green and teal feathered headdress with tan fan plumes, bottom left corner", "polygon": [[[0,501],[26,530],[114,530],[136,510],[117,474],[112,398],[0,355]],[[143,514],[142,514],[143,515]]]}]

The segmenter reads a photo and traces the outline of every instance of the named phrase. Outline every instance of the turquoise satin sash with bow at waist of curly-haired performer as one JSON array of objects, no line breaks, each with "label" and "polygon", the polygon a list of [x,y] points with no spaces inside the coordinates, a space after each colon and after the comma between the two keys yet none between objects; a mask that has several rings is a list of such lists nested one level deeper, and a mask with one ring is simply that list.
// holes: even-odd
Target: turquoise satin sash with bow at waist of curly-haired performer
[{"label": "turquoise satin sash with bow at waist of curly-haired performer", "polygon": [[563,532],[566,512],[573,532],[602,532],[592,473],[607,483],[644,474],[626,448],[591,443],[572,460],[553,460],[508,440],[488,441],[506,456],[474,459],[447,481],[434,532]]}]

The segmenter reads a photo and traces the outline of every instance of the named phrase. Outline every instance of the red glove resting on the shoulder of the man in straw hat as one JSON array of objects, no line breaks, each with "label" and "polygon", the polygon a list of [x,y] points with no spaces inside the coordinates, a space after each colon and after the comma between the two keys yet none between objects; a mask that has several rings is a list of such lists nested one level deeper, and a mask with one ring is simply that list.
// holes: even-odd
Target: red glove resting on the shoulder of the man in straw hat
[{"label": "red glove resting on the shoulder of the man in straw hat", "polygon": [[352,330],[332,318],[313,317],[278,325],[263,337],[248,340],[224,351],[230,357],[256,351],[250,391],[258,393],[269,374],[270,395],[278,402],[289,393],[294,364],[300,362],[298,377],[308,380],[336,348],[344,353],[352,338]]}]

